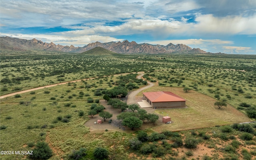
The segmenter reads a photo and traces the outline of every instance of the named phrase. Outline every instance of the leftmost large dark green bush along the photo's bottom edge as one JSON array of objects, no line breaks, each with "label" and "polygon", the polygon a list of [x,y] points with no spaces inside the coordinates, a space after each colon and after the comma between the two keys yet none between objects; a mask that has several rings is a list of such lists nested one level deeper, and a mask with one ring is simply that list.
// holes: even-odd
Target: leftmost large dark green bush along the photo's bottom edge
[{"label": "leftmost large dark green bush along the photo's bottom edge", "polygon": [[33,154],[28,157],[31,159],[47,160],[52,156],[52,150],[46,142],[37,142],[36,148],[33,150]]}]

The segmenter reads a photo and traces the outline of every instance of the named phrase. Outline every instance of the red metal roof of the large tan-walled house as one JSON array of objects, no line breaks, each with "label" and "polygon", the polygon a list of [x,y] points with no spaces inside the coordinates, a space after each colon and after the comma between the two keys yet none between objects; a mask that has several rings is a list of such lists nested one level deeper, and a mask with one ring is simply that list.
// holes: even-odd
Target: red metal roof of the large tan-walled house
[{"label": "red metal roof of the large tan-walled house", "polygon": [[186,101],[172,92],[144,92],[143,93],[151,102],[175,102]]}]

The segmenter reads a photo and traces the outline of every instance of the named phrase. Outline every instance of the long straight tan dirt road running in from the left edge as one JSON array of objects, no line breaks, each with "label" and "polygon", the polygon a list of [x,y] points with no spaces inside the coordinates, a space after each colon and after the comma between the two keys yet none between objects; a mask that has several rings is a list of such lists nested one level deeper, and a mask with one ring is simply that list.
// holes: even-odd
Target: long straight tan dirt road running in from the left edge
[{"label": "long straight tan dirt road running in from the left edge", "polygon": [[[132,73],[135,74],[136,72],[132,72]],[[138,72],[138,73],[143,74],[144,72]],[[130,74],[130,73],[115,74],[114,76],[120,76],[120,75],[126,75],[126,74]],[[108,77],[108,76],[104,76],[104,77]],[[95,79],[95,78],[98,78],[98,77],[87,78],[87,79],[83,79],[83,80],[92,80],[92,79]],[[51,85],[48,85],[48,86],[32,88],[32,89],[29,89],[29,90],[22,90],[22,91],[19,91],[19,92],[14,92],[14,93],[10,93],[10,94],[0,96],[0,99],[10,97],[10,96],[14,96],[15,94],[22,94],[22,93],[31,92],[31,91],[34,91],[34,90],[40,90],[40,89],[43,89],[43,88],[49,88],[49,87],[54,87],[54,86],[58,86],[58,85],[62,85],[62,84],[67,84],[67,83],[72,83],[72,82],[80,82],[80,81],[81,80],[73,80],[73,81],[69,81],[69,82],[62,82],[62,83],[57,83],[57,84],[51,84]]]}]

